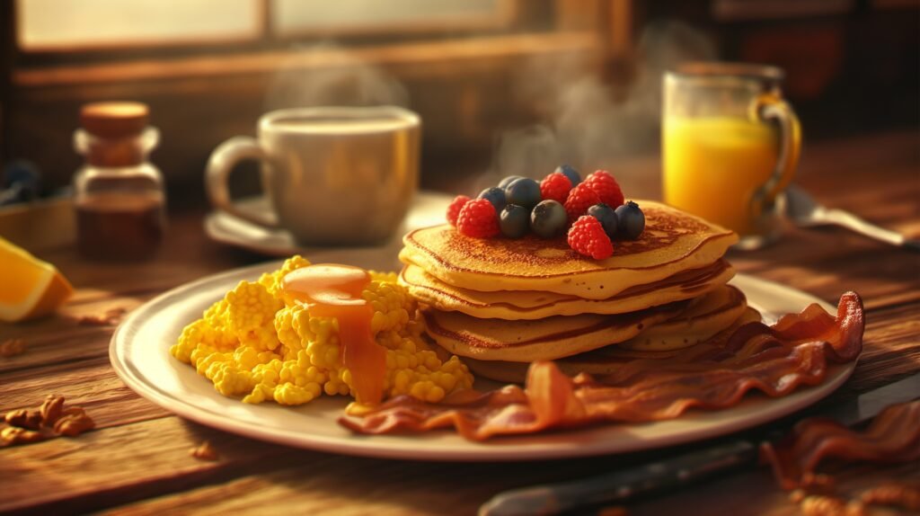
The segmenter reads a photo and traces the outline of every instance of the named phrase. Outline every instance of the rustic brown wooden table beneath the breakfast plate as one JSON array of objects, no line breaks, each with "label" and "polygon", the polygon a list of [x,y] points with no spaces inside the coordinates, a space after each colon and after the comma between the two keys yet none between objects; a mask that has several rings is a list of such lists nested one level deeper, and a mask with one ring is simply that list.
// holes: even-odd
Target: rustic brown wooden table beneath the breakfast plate
[{"label": "rustic brown wooden table beneath the breakfast plate", "polygon": [[[887,134],[807,148],[799,183],[819,201],[920,235],[920,145],[916,133]],[[654,160],[646,162],[653,170]],[[59,315],[0,323],[0,340],[24,338],[25,354],[0,358],[0,409],[38,406],[58,393],[86,407],[97,429],[0,450],[0,511],[110,510],[226,513],[291,510],[304,514],[472,514],[500,490],[622,467],[661,450],[626,456],[529,464],[449,464],[333,455],[252,441],[180,419],[135,395],[109,366],[114,327],[79,326],[81,315],[133,309],[201,276],[256,262],[210,242],[201,212],[178,214],[160,256],[138,265],[100,265],[72,248],[41,250],[76,286]],[[791,230],[775,247],[733,254],[745,273],[836,303],[845,290],[867,307],[865,351],[853,378],[834,394],[854,396],[920,371],[920,255],[842,229]],[[190,456],[211,441],[216,462]],[[918,464],[842,469],[851,482],[920,477]],[[638,500],[630,513],[796,513],[765,468]]]}]

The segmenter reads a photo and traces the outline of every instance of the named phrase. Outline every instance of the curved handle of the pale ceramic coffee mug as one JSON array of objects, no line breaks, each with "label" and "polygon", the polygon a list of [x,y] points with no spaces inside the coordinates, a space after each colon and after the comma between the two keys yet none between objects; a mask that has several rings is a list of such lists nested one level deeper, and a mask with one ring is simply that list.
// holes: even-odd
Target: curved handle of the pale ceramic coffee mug
[{"label": "curved handle of the pale ceramic coffee mug", "polygon": [[[278,216],[274,212],[259,213],[241,210],[230,199],[227,179],[230,178],[230,173],[233,172],[234,166],[247,159],[259,161],[265,167],[270,166],[265,152],[259,146],[259,142],[248,136],[235,136],[214,149],[214,152],[211,153],[211,158],[208,159],[208,167],[204,177],[204,186],[208,192],[208,199],[218,210],[223,210],[245,221],[265,227],[278,227]],[[263,189],[265,184],[266,178],[263,176]]]}]

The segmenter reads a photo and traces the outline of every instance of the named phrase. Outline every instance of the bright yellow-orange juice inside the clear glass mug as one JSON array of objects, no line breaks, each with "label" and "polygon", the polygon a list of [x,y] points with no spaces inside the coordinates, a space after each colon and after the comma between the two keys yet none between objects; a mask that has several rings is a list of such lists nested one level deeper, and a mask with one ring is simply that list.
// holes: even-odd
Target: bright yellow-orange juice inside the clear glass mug
[{"label": "bright yellow-orange juice inside the clear glass mug", "polygon": [[750,202],[776,166],[776,131],[740,117],[668,116],[662,134],[664,201],[756,235]]}]

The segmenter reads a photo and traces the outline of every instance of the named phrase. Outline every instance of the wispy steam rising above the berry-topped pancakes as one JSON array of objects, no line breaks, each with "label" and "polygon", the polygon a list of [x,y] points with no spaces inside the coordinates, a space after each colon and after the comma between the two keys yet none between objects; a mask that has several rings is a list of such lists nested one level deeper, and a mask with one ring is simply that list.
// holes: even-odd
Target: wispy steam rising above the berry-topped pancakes
[{"label": "wispy steam rising above the berry-topped pancakes", "polygon": [[[632,82],[615,88],[579,60],[542,59],[528,63],[516,93],[543,106],[546,120],[500,135],[491,170],[477,187],[518,175],[542,178],[561,163],[590,173],[629,155],[657,148],[661,123],[661,76],[685,61],[715,57],[711,41],[680,22],[648,26],[638,41]],[[629,170],[615,170],[624,186]]]}]

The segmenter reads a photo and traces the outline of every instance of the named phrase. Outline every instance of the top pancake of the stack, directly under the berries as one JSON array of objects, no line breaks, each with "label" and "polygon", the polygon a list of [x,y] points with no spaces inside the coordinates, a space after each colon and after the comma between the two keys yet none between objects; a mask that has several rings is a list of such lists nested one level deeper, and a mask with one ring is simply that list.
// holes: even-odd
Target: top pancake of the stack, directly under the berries
[{"label": "top pancake of the stack, directly under the berries", "polygon": [[448,224],[408,233],[399,258],[471,291],[556,292],[601,300],[711,265],[738,241],[730,230],[664,204],[639,204],[645,232],[635,241],[616,241],[614,256],[603,260],[579,255],[565,238],[471,238]]}]

